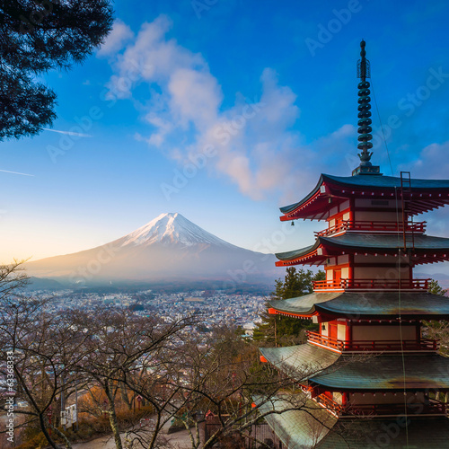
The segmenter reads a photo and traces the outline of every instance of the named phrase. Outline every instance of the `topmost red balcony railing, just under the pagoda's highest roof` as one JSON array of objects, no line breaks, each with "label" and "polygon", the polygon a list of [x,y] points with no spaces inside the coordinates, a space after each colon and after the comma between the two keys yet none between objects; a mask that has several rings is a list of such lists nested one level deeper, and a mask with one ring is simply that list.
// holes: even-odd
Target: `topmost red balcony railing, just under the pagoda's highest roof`
[{"label": "topmost red balcony railing, just under the pagoda's highest roof", "polygon": [[[406,233],[425,233],[427,222],[407,222]],[[315,232],[317,237],[326,237],[335,233],[345,233],[347,231],[357,231],[359,233],[403,233],[404,226],[396,222],[369,222],[347,220],[338,225],[330,226],[320,232]]]}]

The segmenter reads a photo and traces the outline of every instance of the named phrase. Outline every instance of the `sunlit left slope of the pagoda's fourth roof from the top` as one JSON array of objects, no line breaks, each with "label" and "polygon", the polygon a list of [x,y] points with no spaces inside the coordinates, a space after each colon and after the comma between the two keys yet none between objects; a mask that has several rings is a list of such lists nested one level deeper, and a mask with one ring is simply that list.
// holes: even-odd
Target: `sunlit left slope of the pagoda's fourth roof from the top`
[{"label": "sunlit left slope of the pagoda's fourth roof from the top", "polygon": [[298,382],[305,382],[339,359],[339,354],[310,343],[286,348],[260,348],[260,353],[270,364]]}]

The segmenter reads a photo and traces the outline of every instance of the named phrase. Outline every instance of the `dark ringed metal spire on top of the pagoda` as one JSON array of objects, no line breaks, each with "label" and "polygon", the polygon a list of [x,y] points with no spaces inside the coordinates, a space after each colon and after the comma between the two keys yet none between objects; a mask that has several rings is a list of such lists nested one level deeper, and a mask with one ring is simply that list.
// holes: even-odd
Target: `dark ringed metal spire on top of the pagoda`
[{"label": "dark ringed metal spire on top of the pagoda", "polygon": [[380,174],[380,167],[373,165],[370,160],[373,152],[369,150],[373,148],[371,140],[373,135],[370,134],[373,130],[371,128],[371,98],[370,84],[366,78],[371,78],[371,68],[368,59],[366,59],[365,40],[360,42],[360,56],[361,59],[357,61],[357,78],[362,81],[358,84],[358,145],[357,148],[362,150],[358,157],[360,158],[360,165],[353,170],[352,175],[357,174]]}]

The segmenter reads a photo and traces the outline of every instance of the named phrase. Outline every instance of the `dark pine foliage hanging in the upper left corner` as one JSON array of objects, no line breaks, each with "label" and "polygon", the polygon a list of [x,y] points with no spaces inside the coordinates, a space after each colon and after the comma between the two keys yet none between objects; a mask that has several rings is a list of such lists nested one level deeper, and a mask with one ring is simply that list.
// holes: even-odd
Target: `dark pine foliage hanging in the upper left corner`
[{"label": "dark pine foliage hanging in the upper left corner", "polygon": [[109,0],[8,0],[0,4],[0,140],[33,136],[56,118],[40,83],[92,54],[112,26]]}]

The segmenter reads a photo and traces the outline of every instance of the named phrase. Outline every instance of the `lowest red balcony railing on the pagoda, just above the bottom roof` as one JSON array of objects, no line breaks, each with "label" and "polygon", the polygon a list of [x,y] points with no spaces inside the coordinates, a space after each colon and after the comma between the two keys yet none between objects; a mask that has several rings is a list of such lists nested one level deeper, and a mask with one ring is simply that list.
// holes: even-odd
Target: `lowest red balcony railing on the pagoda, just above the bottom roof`
[{"label": "lowest red balcony railing on the pagoda, just above the bottom roof", "polygon": [[[378,393],[382,394],[382,393]],[[404,413],[404,404],[347,404],[341,405],[333,401],[325,394],[313,398],[313,401],[327,409],[333,415],[343,417],[354,416],[398,416]],[[407,412],[410,415],[445,415],[446,404],[440,401],[430,400],[427,403],[410,402],[407,404]]]}]

